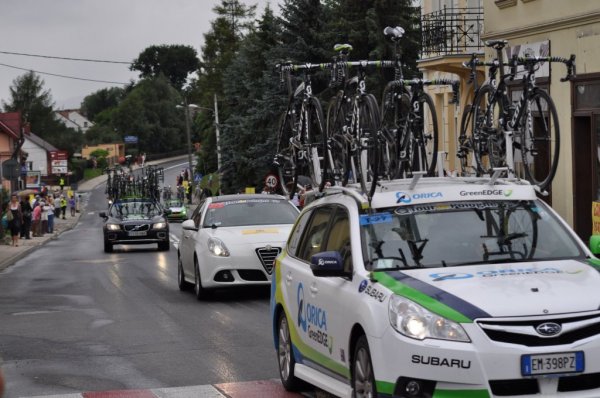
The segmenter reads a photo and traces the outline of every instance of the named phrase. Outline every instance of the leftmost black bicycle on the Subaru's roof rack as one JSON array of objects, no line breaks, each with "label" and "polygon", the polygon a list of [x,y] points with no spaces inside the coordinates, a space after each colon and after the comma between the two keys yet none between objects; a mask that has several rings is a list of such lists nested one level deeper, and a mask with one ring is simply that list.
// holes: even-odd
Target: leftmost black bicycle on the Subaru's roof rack
[{"label": "leftmost black bicycle on the Subaru's roof rack", "polygon": [[[283,193],[290,199],[298,188],[301,175],[310,176],[312,185],[320,190],[325,184],[327,144],[323,109],[312,93],[311,75],[327,67],[328,64],[294,65],[291,62],[276,66],[281,84],[287,85],[289,98],[279,123],[274,164]],[[299,73],[302,80],[295,90],[292,90],[292,73]]]}]

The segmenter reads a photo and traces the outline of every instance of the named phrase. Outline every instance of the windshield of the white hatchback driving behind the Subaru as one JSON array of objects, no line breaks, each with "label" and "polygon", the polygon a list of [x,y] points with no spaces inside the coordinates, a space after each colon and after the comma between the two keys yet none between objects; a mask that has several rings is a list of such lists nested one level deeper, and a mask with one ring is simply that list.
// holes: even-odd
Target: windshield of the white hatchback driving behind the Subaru
[{"label": "windshield of the white hatchback driving behind the Subaru", "polygon": [[286,200],[239,199],[208,205],[204,227],[293,224],[298,210]]}]

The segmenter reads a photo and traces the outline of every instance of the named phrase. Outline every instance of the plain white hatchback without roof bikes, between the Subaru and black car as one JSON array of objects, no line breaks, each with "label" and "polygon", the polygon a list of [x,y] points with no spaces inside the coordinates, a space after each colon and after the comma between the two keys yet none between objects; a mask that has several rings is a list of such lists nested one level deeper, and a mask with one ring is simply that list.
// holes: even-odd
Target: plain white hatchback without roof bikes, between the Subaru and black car
[{"label": "plain white hatchback without roof bikes, between the Subaru and black car", "polygon": [[214,288],[269,285],[298,213],[279,195],[206,198],[181,225],[179,288],[193,285],[200,300]]}]

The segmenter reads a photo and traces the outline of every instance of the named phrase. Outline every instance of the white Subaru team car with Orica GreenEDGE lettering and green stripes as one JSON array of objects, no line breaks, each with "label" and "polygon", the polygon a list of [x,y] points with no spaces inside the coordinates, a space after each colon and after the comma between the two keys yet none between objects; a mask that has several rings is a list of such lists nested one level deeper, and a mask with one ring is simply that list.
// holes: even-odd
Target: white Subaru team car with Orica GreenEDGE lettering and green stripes
[{"label": "white Subaru team car with Orica GreenEDGE lettering and green stripes", "polygon": [[531,185],[446,177],[377,191],[370,204],[357,188],[326,191],[276,260],[286,389],[600,397],[600,263]]}]

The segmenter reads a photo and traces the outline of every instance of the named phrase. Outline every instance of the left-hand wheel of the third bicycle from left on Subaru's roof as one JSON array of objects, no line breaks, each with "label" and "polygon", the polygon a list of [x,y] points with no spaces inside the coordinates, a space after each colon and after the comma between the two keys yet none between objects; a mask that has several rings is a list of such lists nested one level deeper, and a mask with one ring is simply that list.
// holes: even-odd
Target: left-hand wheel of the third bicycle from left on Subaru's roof
[{"label": "left-hand wheel of the third bicycle from left on Subaru's roof", "polygon": [[404,87],[390,82],[385,87],[382,96],[381,131],[385,140],[381,148],[380,175],[383,178],[394,179],[400,174],[400,164],[403,153],[400,148],[403,140],[402,132],[410,112],[410,95]]}]

